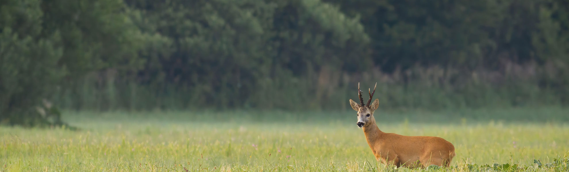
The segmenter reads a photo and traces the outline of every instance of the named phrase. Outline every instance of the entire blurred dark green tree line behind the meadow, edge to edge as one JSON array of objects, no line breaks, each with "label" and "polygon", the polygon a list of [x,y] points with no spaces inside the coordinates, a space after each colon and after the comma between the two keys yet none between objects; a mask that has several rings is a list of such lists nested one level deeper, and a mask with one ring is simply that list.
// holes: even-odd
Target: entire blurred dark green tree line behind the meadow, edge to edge
[{"label": "entire blurred dark green tree line behind the meadow, edge to edge", "polygon": [[70,110],[345,109],[357,82],[379,82],[385,108],[563,105],[568,8],[560,0],[5,0],[0,123],[51,123],[36,108],[46,99]]}]

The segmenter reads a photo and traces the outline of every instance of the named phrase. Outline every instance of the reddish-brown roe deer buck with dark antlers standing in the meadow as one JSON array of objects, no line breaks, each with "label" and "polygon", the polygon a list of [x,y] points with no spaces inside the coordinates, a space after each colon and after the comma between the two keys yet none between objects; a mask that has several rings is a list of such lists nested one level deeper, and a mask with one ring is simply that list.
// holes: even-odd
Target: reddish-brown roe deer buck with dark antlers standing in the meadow
[{"label": "reddish-brown roe deer buck with dark antlers standing in the meadow", "polygon": [[430,165],[449,167],[452,158],[456,156],[455,146],[441,137],[434,136],[402,136],[395,133],[382,132],[376,124],[374,112],[379,107],[380,100],[376,99],[370,104],[373,93],[368,89],[369,100],[364,104],[358,82],[358,97],[360,104],[350,99],[350,105],[357,111],[357,123],[364,131],[369,148],[372,149],[376,161],[387,166],[407,167],[409,169],[423,168]]}]

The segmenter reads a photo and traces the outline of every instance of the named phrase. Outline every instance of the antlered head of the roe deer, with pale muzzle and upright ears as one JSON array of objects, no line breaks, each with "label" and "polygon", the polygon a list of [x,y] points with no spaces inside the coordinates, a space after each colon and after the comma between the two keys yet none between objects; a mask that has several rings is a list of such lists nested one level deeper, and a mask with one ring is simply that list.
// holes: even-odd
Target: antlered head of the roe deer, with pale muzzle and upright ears
[{"label": "antlered head of the roe deer, with pale muzzle and upright ears", "polygon": [[[380,100],[376,99],[372,102],[372,98],[373,98],[373,94],[376,93],[376,87],[377,87],[377,82],[376,82],[376,86],[373,87],[373,92],[370,91],[370,89],[368,89],[368,93],[369,93],[369,100],[368,100],[368,104],[364,104],[364,99],[361,98],[361,93],[363,93],[363,91],[360,90],[360,83],[357,83],[357,91],[358,91],[358,97],[360,97],[360,104],[354,102],[354,100],[350,99],[350,105],[352,106],[354,111],[357,111],[357,127],[366,127],[369,123],[369,121],[375,121],[375,119],[373,118],[373,112],[377,110],[377,107],[380,106]],[[371,104],[370,104],[371,103]]]}]

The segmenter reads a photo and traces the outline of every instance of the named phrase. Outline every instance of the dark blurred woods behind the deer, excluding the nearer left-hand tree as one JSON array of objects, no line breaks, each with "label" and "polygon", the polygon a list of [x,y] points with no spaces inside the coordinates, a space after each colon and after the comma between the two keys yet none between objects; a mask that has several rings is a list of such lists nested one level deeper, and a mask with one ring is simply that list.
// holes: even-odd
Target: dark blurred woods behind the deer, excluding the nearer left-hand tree
[{"label": "dark blurred woods behind the deer, excluding the nearer left-hand tree", "polygon": [[143,67],[90,75],[68,87],[79,101],[60,93],[65,107],[344,109],[357,82],[380,82],[384,108],[569,95],[566,56],[554,55],[569,49],[562,1],[126,3]]}]

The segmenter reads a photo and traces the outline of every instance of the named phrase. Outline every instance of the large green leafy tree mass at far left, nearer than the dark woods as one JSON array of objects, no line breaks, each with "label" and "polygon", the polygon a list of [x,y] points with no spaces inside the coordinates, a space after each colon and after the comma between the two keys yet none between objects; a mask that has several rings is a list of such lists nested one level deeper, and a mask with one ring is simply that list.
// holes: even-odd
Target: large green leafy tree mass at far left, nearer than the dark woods
[{"label": "large green leafy tree mass at far left, nearer than the dark woods", "polygon": [[137,51],[131,49],[133,30],[121,5],[115,0],[0,2],[0,121],[63,124],[50,123],[34,107],[53,96],[64,79],[122,64],[127,52]]}]

